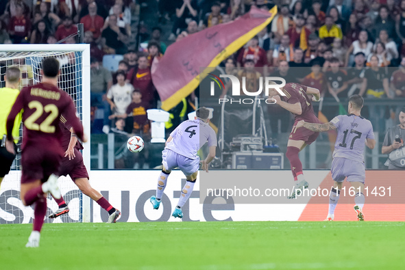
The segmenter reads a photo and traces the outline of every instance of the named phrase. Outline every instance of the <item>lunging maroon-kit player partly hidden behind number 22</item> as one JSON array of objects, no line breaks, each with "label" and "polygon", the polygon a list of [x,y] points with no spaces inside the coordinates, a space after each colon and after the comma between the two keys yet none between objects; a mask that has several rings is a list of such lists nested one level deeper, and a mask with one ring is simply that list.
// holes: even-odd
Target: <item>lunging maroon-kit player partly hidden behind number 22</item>
[{"label": "lunging maroon-kit player partly hidden behind number 22", "polygon": [[[75,185],[77,185],[85,195],[88,195],[88,197],[95,200],[97,204],[110,214],[107,223],[115,223],[116,219],[121,215],[121,212],[112,207],[110,202],[108,202],[99,191],[93,189],[93,187],[90,186],[90,183],[88,183],[88,173],[86,166],[84,166],[83,163],[82,153],[79,151],[83,149],[83,146],[77,140],[77,135],[73,132],[71,124],[66,121],[64,116],[60,116],[59,127],[62,131],[62,149],[66,149],[66,152],[64,152],[64,158],[60,163],[59,175],[67,176],[69,174]],[[49,215],[49,218],[51,219],[69,212],[69,207],[66,205],[66,202],[64,202],[62,197],[60,199],[54,199],[58,203],[59,209],[55,211],[55,213]]]}]

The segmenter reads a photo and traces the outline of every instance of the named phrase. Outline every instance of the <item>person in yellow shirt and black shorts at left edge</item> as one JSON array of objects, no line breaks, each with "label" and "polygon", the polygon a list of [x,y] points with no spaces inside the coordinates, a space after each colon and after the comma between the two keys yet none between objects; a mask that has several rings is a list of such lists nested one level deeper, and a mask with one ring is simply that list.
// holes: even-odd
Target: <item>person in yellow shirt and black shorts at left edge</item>
[{"label": "person in yellow shirt and black shorts at left edge", "polygon": [[[11,66],[5,71],[4,75],[5,87],[0,89],[0,135],[1,135],[1,145],[0,145],[0,185],[5,174],[10,172],[10,167],[12,161],[16,158],[16,154],[8,152],[5,148],[6,133],[5,122],[7,121],[8,114],[11,111],[11,107],[16,101],[17,96],[19,96],[20,91],[19,84],[21,81],[21,71],[15,66]],[[20,137],[20,124],[21,124],[21,112],[16,116],[16,121],[14,122],[14,127],[12,129],[12,137],[14,137],[14,150],[16,148],[16,143],[19,141]]]}]

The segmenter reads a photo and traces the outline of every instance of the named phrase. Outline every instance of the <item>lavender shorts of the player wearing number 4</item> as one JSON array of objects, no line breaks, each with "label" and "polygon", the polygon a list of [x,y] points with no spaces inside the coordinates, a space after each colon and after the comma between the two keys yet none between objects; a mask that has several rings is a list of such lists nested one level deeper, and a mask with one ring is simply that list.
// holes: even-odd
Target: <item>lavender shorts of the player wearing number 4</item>
[{"label": "lavender shorts of the player wearing number 4", "polygon": [[162,151],[162,164],[166,170],[173,170],[175,167],[179,167],[184,175],[189,176],[198,171],[199,157],[197,159],[189,159],[170,149],[164,149]]}]

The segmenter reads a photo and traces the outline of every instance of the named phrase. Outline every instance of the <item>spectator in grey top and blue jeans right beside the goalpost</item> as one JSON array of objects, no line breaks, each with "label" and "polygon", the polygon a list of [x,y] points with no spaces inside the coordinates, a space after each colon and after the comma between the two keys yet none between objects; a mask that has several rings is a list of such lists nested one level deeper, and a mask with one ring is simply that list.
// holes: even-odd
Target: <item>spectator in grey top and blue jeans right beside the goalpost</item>
[{"label": "spectator in grey top and blue jeans right beside the goalpost", "polygon": [[110,129],[108,116],[110,106],[106,101],[107,90],[112,86],[111,72],[100,65],[95,57],[90,58],[90,105],[104,109],[103,132],[108,133]]}]

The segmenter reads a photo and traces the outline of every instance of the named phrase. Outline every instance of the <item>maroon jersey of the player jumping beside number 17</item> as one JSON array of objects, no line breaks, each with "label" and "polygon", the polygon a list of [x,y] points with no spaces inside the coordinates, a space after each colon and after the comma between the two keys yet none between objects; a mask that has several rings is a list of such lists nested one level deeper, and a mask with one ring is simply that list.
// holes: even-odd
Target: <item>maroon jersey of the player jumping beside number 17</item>
[{"label": "maroon jersey of the player jumping beside number 17", "polygon": [[282,100],[290,104],[301,104],[302,113],[300,115],[295,114],[295,122],[305,120],[305,122],[319,123],[314,108],[312,108],[311,100],[306,95],[306,88],[305,85],[299,83],[286,83],[282,90],[286,96],[282,96]]}]

